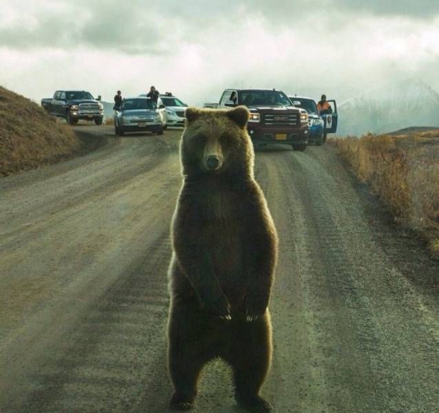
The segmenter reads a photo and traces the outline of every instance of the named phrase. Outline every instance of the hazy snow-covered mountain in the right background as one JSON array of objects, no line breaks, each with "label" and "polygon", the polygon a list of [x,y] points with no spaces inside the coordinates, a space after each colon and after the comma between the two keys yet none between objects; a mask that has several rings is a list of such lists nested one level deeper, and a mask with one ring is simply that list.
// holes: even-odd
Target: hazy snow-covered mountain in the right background
[{"label": "hazy snow-covered mountain in the right background", "polygon": [[337,134],[384,133],[439,126],[439,94],[422,81],[407,80],[370,89],[339,104]]}]

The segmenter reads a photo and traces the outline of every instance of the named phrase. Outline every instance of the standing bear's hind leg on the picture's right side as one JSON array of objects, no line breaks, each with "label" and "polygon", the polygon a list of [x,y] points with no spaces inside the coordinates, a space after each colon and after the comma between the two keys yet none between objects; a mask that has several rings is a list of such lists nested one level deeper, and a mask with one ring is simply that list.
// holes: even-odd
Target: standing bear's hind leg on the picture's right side
[{"label": "standing bear's hind leg on the picture's right side", "polygon": [[261,319],[245,322],[234,329],[229,356],[235,381],[235,399],[241,407],[257,413],[271,412],[268,401],[259,396],[271,361],[271,328],[268,311]]}]

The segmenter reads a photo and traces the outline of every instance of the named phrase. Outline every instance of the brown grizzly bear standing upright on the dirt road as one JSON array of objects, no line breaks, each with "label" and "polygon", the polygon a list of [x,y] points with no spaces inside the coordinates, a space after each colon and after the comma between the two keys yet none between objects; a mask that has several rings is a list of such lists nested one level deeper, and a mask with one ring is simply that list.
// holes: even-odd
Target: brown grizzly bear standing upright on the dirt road
[{"label": "brown grizzly bear standing upright on the dirt road", "polygon": [[186,109],[183,186],[172,224],[168,367],[171,407],[191,410],[204,364],[233,368],[235,399],[270,412],[259,396],[271,360],[268,301],[277,234],[253,175],[248,110]]}]

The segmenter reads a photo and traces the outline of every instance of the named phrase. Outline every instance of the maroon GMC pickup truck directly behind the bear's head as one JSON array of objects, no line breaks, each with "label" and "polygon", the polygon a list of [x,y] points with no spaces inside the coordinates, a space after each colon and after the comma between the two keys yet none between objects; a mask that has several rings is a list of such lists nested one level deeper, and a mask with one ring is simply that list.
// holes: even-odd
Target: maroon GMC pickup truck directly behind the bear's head
[{"label": "maroon GMC pickup truck directly behind the bear's head", "polygon": [[224,109],[237,105],[244,105],[250,111],[247,129],[255,147],[283,143],[296,151],[306,149],[308,113],[294,107],[283,92],[275,89],[226,89],[217,107]]}]

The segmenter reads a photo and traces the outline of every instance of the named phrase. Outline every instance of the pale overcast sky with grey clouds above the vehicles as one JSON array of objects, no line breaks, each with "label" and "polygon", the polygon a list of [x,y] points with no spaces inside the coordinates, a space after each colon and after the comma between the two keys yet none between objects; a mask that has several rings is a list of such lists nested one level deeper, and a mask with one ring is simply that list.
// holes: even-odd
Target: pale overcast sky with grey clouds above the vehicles
[{"label": "pale overcast sky with grey clouds above the vehicles", "polygon": [[189,104],[224,87],[317,98],[422,79],[439,89],[439,0],[2,0],[0,85],[112,100],[156,85]]}]

